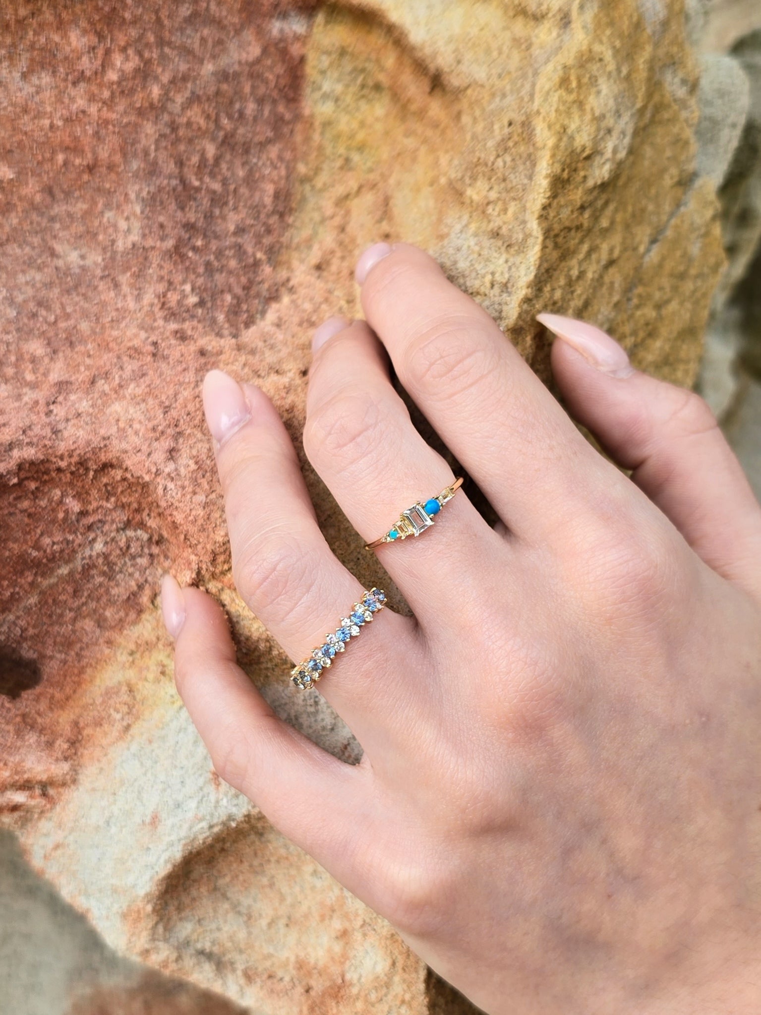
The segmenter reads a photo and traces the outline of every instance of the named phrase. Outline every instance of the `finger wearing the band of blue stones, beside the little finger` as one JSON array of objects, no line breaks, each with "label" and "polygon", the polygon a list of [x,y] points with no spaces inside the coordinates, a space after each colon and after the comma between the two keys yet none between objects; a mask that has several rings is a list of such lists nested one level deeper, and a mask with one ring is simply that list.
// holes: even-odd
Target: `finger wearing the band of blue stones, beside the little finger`
[{"label": "finger wearing the band of blue stones, beside the little finger", "polygon": [[[235,586],[300,662],[325,644],[362,588],[320,531],[293,445],[264,392],[212,370],[204,382],[204,409],[215,439]],[[397,700],[407,693],[401,674],[377,661],[393,661],[400,652],[410,658],[415,650],[410,618],[389,609],[375,616],[360,636],[350,637],[346,658],[337,653],[339,665],[326,668],[318,685],[365,748],[406,703]]]}]

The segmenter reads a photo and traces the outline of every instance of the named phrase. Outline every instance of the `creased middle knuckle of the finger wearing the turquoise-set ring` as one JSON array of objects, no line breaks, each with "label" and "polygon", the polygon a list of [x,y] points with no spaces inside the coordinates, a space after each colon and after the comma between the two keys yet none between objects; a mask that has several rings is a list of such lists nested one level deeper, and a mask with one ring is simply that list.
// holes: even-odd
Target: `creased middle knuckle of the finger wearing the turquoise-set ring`
[{"label": "creased middle knuckle of the finger wearing the turquoise-set ring", "polygon": [[309,460],[335,457],[344,467],[367,460],[383,439],[380,415],[377,403],[361,395],[330,399],[306,420],[303,444]]}]

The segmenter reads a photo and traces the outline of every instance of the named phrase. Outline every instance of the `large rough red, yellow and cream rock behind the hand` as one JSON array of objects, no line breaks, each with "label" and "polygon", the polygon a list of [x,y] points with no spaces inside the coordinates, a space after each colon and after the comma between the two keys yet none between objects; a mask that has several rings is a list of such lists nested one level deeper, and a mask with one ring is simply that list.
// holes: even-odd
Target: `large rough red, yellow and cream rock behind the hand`
[{"label": "large rough red, yellow and cream rock behind the hand", "polygon": [[251,1011],[464,1011],[220,784],[174,691],[166,567],[220,596],[283,715],[358,756],[231,588],[199,384],[259,381],[297,437],[309,332],[385,238],[543,376],[540,310],[691,383],[723,253],[681,0],[7,0],[0,48],[3,820],[111,948]]}]

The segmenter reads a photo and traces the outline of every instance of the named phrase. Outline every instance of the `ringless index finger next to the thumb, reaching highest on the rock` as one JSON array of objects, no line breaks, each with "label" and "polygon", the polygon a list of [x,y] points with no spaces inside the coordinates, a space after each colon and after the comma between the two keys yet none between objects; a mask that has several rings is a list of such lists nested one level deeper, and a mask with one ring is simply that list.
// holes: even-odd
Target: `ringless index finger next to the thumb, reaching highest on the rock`
[{"label": "ringless index finger next to the thumb, reaching highest on the rock", "polygon": [[567,540],[617,471],[433,258],[408,244],[387,250],[374,263],[385,251],[365,252],[357,277],[400,381],[513,534]]}]

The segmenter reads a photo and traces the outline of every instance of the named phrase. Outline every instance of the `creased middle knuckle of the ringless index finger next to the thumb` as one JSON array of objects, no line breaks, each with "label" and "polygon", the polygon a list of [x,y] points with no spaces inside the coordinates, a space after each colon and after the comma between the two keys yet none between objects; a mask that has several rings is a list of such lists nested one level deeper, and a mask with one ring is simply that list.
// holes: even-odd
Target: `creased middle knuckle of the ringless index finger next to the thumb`
[{"label": "creased middle knuckle of the ringless index finger next to the thumb", "polygon": [[451,398],[481,386],[497,364],[494,351],[474,339],[472,320],[444,318],[415,338],[404,365],[416,387]]}]

